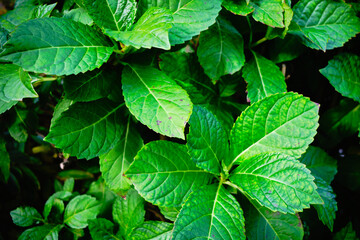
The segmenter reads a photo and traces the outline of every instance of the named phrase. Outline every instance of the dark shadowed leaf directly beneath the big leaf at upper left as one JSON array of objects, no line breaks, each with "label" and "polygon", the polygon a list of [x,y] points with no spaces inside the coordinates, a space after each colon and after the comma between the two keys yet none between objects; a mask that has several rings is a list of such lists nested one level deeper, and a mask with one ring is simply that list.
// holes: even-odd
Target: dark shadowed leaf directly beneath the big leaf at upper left
[{"label": "dark shadowed leaf directly beneath the big leaf at upper left", "polygon": [[70,75],[64,79],[65,98],[89,102],[106,97],[116,80],[116,72],[109,69]]}]

